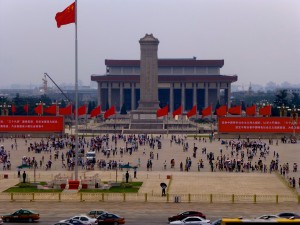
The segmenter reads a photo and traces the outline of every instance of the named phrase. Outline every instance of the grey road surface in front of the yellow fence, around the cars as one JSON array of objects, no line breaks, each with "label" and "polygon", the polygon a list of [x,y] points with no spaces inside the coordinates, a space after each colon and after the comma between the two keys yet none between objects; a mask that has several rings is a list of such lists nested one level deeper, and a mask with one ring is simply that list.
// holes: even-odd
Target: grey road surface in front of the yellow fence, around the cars
[{"label": "grey road surface in front of the yellow fence, around the cars", "polygon": [[[0,202],[0,214],[17,209],[31,209],[41,215],[34,224],[51,225],[93,209],[103,209],[125,217],[126,224],[150,225],[168,224],[167,218],[185,210],[199,210],[211,221],[220,217],[254,218],[262,214],[276,214],[283,211],[300,213],[300,205],[282,204],[199,204],[199,203],[128,203],[128,202]],[[9,223],[11,225],[21,223]],[[27,223],[28,224],[28,223]]]}]

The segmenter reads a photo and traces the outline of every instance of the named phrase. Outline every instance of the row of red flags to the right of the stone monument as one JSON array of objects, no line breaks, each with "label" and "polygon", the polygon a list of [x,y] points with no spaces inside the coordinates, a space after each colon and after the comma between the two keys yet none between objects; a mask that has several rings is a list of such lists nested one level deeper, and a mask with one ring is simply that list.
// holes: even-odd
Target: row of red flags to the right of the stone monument
[{"label": "row of red flags to the right of the stone monument", "polygon": [[[166,116],[169,113],[169,106],[166,105],[165,107],[158,109],[156,112],[157,117]],[[227,106],[223,105],[216,109],[216,115],[217,116],[226,116],[227,113],[231,115],[241,115],[242,114],[242,107],[241,106],[235,106],[231,107],[227,111]],[[265,107],[262,107],[258,111],[259,115],[262,116],[270,116],[271,115],[271,105],[267,105]],[[190,111],[186,114],[188,118],[195,116],[197,114],[197,106],[194,105]],[[178,115],[182,115],[182,106],[179,106],[175,111],[172,113],[173,118]],[[208,106],[204,108],[201,111],[202,118],[206,116],[212,115],[212,107]],[[246,108],[246,115],[247,116],[255,116],[256,115],[256,105],[252,105]]]}]

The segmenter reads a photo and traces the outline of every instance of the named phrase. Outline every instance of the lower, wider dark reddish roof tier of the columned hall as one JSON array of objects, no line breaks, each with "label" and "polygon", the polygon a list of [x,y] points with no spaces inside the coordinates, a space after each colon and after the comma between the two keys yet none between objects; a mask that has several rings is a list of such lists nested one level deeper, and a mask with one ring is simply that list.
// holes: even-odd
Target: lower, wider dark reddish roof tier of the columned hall
[{"label": "lower, wider dark reddish roof tier of the columned hall", "polygon": [[[235,82],[238,77],[236,75],[158,75],[158,82]],[[101,82],[140,82],[139,75],[92,75],[92,81]]]}]

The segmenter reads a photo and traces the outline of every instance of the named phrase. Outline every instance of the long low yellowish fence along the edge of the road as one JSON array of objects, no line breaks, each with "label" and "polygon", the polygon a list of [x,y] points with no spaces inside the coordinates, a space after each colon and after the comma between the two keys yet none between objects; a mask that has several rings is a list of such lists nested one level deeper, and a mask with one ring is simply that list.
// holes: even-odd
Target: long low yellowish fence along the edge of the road
[{"label": "long low yellowish fence along the edge of the road", "polygon": [[223,195],[139,193],[0,193],[0,201],[101,201],[101,202],[198,202],[198,203],[298,203],[300,195]]}]

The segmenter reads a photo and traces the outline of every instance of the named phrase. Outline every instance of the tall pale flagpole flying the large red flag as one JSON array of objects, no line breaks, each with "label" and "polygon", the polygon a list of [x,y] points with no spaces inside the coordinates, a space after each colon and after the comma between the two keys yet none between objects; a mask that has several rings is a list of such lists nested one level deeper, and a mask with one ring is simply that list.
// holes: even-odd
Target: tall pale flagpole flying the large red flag
[{"label": "tall pale flagpole flying the large red flag", "polygon": [[[78,109],[77,0],[75,0],[75,112]],[[75,114],[75,180],[78,180],[78,112]]]}]

